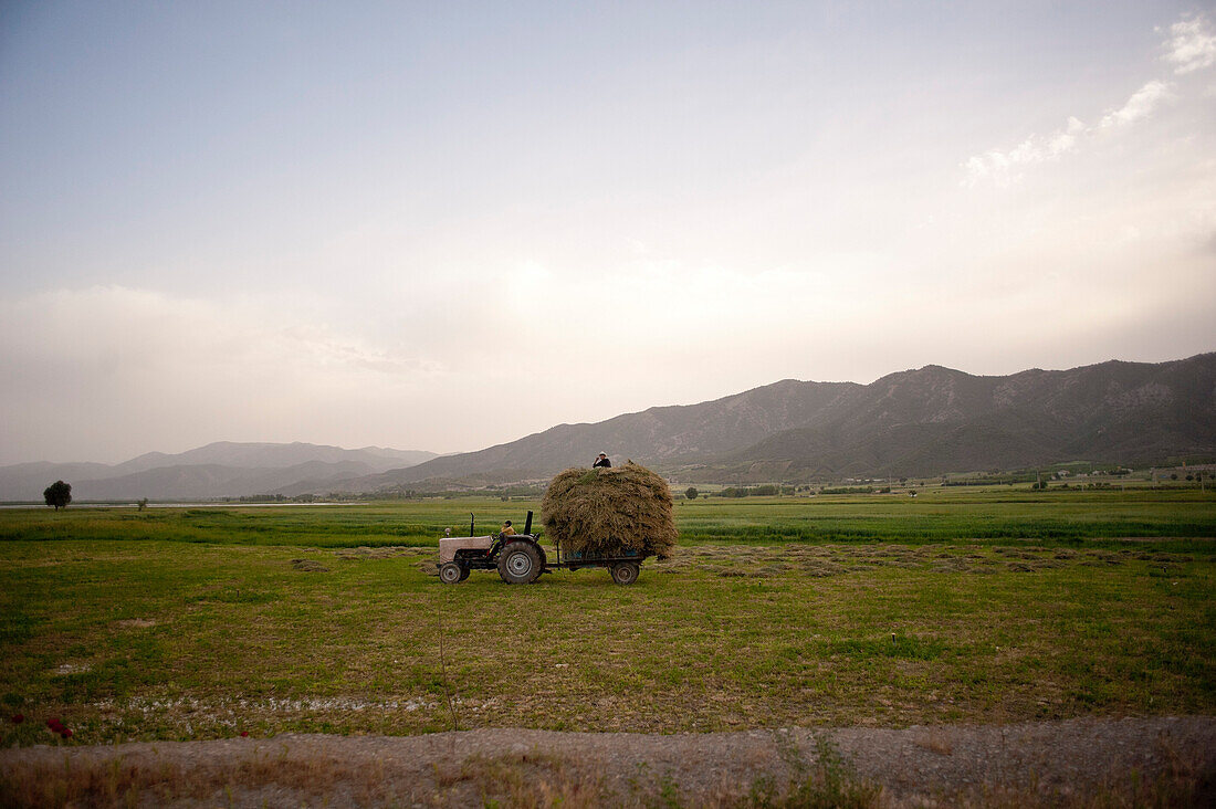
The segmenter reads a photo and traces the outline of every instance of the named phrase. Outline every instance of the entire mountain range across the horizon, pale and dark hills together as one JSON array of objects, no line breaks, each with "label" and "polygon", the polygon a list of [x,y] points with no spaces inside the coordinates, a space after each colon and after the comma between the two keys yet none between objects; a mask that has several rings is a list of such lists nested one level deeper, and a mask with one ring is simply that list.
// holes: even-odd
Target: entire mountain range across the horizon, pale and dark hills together
[{"label": "entire mountain range across the horizon, pale and dark hills together", "polygon": [[869,384],[783,380],[694,405],[558,425],[474,453],[208,444],[101,464],[0,467],[0,500],[57,478],[77,500],[438,490],[545,481],[599,451],[685,482],[935,476],[1073,460],[1216,455],[1216,353],[973,376],[928,365]]}]

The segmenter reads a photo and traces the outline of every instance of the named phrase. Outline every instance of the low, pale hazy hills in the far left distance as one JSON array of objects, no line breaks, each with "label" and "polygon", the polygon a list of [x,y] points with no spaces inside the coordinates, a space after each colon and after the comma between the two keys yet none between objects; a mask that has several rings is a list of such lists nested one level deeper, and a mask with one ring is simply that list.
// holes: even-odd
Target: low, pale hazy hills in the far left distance
[{"label": "low, pale hazy hills in the far left distance", "polygon": [[123,464],[18,464],[0,467],[0,500],[41,500],[57,479],[75,500],[206,499],[309,489],[402,468],[434,453],[381,446],[216,442],[168,455],[147,453]]}]

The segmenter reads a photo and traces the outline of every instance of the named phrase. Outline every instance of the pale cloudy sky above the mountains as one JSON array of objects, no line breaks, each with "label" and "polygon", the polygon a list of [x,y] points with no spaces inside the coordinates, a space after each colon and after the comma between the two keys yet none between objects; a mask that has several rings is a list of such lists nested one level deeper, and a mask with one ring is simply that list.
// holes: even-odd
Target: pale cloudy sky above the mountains
[{"label": "pale cloudy sky above the mountains", "polygon": [[0,464],[1214,349],[1210,2],[0,6]]}]

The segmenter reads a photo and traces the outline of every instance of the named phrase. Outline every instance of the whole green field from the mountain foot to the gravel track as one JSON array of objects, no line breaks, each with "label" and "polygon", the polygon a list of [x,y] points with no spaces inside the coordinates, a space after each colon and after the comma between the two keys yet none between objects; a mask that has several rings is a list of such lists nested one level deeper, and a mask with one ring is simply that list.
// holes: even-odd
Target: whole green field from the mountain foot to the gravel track
[{"label": "whole green field from the mountain foot to the gravel track", "polygon": [[528,507],[0,511],[0,743],[1216,710],[1211,495],[681,501],[630,588],[429,574]]}]

